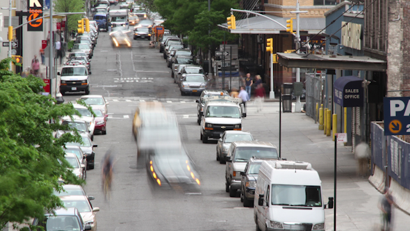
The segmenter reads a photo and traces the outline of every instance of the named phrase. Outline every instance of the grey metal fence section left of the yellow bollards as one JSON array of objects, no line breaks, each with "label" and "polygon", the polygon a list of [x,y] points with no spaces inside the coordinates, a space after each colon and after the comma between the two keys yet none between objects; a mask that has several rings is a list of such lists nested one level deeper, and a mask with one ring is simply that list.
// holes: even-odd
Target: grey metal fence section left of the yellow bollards
[{"label": "grey metal fence section left of the yellow bollards", "polygon": [[[320,74],[306,73],[306,115],[317,119],[316,103],[320,104],[322,90],[322,77]],[[320,107],[320,105],[319,105]]]}]

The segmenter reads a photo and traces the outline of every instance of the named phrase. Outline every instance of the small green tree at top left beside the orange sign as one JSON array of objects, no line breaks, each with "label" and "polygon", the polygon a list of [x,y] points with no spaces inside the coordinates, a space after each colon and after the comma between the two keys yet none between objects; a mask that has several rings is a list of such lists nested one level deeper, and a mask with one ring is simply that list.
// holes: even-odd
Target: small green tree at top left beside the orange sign
[{"label": "small green tree at top left beside the orange sign", "polygon": [[[56,12],[83,12],[84,1],[83,0],[56,0],[56,6],[54,6]],[[67,15],[67,30],[77,31],[77,21],[81,19],[83,15]]]}]

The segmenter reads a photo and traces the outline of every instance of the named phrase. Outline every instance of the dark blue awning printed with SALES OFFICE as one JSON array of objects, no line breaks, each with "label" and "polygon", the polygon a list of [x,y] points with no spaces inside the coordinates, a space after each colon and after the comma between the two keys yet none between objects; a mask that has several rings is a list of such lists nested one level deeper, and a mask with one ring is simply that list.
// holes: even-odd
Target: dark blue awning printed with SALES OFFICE
[{"label": "dark blue awning printed with SALES OFFICE", "polygon": [[363,79],[339,77],[334,82],[334,102],[342,107],[363,106]]}]

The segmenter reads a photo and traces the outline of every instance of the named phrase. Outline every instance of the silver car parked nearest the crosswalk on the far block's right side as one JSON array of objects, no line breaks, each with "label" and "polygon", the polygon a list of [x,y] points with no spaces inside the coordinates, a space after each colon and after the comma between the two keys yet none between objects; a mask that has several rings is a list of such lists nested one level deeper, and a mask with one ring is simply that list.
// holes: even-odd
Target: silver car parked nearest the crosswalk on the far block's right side
[{"label": "silver car parked nearest the crosswalk on the far block's right side", "polygon": [[181,95],[201,94],[208,85],[208,79],[204,74],[183,74],[181,80]]}]

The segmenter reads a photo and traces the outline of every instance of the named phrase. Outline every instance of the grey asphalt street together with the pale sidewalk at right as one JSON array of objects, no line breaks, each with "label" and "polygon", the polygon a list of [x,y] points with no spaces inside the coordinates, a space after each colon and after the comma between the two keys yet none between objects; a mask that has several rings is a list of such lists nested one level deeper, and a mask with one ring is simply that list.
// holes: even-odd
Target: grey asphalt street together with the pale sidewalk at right
[{"label": "grey asphalt street together with the pale sidewalk at right", "polygon": [[[103,95],[110,103],[107,134],[95,136],[95,169],[87,171],[84,186],[88,195],[95,196],[92,205],[100,209],[98,230],[254,230],[253,208],[243,207],[239,194],[230,198],[225,192],[225,165],[215,159],[216,140],[207,144],[199,140],[198,96],[181,96],[163,54],[149,49],[147,40],[133,40],[131,49],[114,48],[106,32],[99,33],[94,54],[90,95]],[[67,93],[64,99],[70,102],[79,97],[81,94]],[[151,100],[177,114],[183,144],[200,174],[199,191],[154,188],[146,169],[137,164],[133,113],[140,102]],[[247,106],[243,130],[279,148],[279,102],[266,102],[261,113],[256,113],[252,102]],[[281,124],[281,157],[310,162],[318,170],[322,200],[327,203],[334,194],[333,141],[304,113],[284,113]],[[116,162],[111,198],[104,200],[101,161],[108,150],[115,154]],[[350,150],[338,145],[337,230],[376,230],[381,222],[377,204],[382,194],[356,175]],[[333,230],[333,209],[326,209],[325,217],[326,230]],[[410,226],[409,216],[398,209],[393,219],[394,230]]]}]

